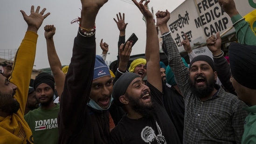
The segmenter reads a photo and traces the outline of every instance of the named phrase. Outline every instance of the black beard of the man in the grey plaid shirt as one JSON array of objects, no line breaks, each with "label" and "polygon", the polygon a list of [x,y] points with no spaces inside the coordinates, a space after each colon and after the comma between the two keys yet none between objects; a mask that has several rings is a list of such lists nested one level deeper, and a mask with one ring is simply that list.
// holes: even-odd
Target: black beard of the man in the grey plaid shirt
[{"label": "black beard of the man in the grey plaid shirt", "polygon": [[[196,87],[196,78],[198,77],[203,77],[205,79],[206,86]],[[214,75],[210,77],[208,80],[205,76],[198,75],[195,77],[194,81],[192,81],[191,79],[189,81],[190,81],[190,89],[192,91],[192,94],[194,94],[199,98],[208,97],[214,90],[214,84],[216,83],[214,79]]]}]

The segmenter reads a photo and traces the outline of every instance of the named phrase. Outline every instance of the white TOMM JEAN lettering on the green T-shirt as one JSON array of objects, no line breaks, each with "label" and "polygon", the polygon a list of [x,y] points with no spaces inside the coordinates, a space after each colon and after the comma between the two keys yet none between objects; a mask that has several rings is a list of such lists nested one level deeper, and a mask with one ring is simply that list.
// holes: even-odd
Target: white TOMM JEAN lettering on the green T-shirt
[{"label": "white TOMM JEAN lettering on the green T-shirt", "polygon": [[35,131],[58,128],[57,118],[35,121]]}]

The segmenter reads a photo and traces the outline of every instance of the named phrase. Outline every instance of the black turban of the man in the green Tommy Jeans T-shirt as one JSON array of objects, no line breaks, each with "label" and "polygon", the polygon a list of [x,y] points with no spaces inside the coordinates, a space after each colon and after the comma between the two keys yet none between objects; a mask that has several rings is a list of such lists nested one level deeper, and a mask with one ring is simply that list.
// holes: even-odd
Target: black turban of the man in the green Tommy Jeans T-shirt
[{"label": "black turban of the man in the green Tommy Jeans T-shirt", "polygon": [[48,73],[40,73],[39,75],[37,75],[33,82],[34,89],[36,89],[41,83],[47,84],[48,86],[50,86],[52,88],[52,90],[54,90],[55,82],[54,82],[54,78],[52,75],[50,75]]}]

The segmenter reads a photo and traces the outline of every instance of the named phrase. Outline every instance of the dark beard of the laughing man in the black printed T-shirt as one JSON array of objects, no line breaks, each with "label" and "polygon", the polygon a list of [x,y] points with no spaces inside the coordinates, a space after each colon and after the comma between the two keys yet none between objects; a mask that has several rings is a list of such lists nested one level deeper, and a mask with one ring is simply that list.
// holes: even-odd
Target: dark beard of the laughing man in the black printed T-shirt
[{"label": "dark beard of the laughing man in the black printed T-shirt", "polygon": [[[140,103],[138,99],[129,96],[127,93],[125,95],[128,97],[129,103],[131,103],[131,107],[134,111],[138,112],[145,118],[155,116],[156,111],[154,109],[153,103],[151,105],[145,105],[143,103]],[[145,94],[142,94],[140,97],[142,97],[143,95]]]}]

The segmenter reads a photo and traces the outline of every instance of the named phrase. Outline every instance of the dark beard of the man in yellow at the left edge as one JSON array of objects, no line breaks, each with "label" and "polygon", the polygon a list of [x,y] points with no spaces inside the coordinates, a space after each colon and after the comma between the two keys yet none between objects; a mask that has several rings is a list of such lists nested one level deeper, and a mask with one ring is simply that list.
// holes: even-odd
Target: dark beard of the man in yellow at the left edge
[{"label": "dark beard of the man in yellow at the left edge", "polygon": [[20,109],[20,103],[14,100],[13,95],[0,93],[0,110],[12,115]]}]

